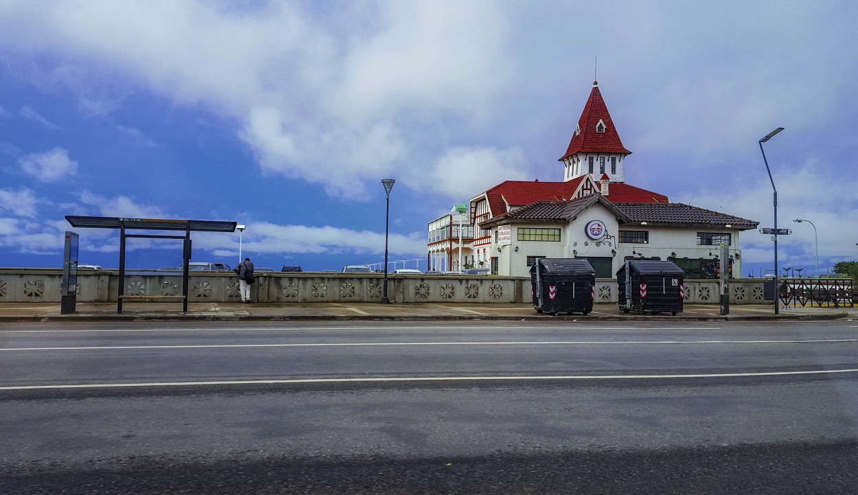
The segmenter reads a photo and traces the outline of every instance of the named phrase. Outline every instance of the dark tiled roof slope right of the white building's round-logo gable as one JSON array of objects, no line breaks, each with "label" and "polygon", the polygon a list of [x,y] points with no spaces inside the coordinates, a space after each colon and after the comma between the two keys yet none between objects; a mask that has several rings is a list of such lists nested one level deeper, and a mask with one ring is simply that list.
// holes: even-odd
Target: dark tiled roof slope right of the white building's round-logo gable
[{"label": "dark tiled roof slope right of the white building's round-logo gable", "polygon": [[[613,184],[612,184],[613,185]],[[631,222],[655,225],[732,226],[739,230],[757,228],[758,221],[722,214],[681,202],[619,203],[615,205]]]}]

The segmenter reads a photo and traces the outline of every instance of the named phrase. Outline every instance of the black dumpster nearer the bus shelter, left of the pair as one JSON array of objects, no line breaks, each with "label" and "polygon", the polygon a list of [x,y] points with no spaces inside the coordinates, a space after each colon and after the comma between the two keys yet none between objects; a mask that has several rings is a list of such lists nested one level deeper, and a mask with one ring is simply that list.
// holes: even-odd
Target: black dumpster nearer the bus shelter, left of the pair
[{"label": "black dumpster nearer the bus shelter, left of the pair", "polygon": [[593,311],[595,269],[583,258],[540,258],[530,268],[530,287],[536,312]]}]

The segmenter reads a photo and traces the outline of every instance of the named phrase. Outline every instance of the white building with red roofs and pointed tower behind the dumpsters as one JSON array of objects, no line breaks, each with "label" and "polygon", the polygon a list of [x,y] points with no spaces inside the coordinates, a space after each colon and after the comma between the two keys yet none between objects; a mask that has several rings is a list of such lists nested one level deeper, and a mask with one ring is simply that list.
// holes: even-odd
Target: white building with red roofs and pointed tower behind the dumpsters
[{"label": "white building with red roofs and pointed tower behind the dumpsters", "polygon": [[[525,276],[539,257],[587,257],[597,276],[613,277],[626,258],[664,257],[706,278],[717,271],[711,269],[717,264],[711,246],[718,244],[731,246],[732,263],[739,263],[739,232],[757,222],[671,203],[668,196],[626,184],[629,154],[594,81],[559,158],[563,181],[507,180],[472,197],[467,218],[433,220],[429,269],[483,267]],[[600,228],[588,230],[594,222]]]}]

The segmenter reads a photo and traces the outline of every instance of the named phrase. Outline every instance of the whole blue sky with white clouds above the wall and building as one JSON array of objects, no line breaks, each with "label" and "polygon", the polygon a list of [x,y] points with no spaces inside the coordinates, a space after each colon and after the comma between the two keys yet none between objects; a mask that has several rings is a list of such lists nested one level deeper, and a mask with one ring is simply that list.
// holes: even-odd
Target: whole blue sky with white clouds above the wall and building
[{"label": "whole blue sky with white clouds above the wall and building", "polygon": [[[426,256],[426,223],[506,179],[562,180],[597,78],[626,180],[772,224],[781,267],[858,256],[858,4],[0,3],[0,266],[59,267],[67,214],[235,220],[257,266]],[[79,230],[83,264],[118,233]],[[234,264],[239,235],[194,236]],[[746,271],[768,236],[741,238]],[[132,268],[178,265],[135,239]],[[408,263],[414,268],[416,262]],[[400,265],[402,268],[402,265]],[[425,268],[425,265],[423,265]]]}]

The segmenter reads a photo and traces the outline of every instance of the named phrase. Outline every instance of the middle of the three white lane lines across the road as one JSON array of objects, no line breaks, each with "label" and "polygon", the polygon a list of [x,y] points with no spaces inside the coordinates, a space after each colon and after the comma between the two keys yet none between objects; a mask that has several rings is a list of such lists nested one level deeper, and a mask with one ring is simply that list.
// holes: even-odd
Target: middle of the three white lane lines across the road
[{"label": "middle of the three white lane lines across the road", "polygon": [[415,346],[608,346],[677,344],[830,344],[854,343],[858,339],[820,339],[807,341],[487,341],[487,342],[311,342],[299,344],[199,344],[175,346],[80,346],[80,347],[8,347],[3,351],[93,351],[118,349],[211,349],[243,347],[415,347]]}]

